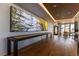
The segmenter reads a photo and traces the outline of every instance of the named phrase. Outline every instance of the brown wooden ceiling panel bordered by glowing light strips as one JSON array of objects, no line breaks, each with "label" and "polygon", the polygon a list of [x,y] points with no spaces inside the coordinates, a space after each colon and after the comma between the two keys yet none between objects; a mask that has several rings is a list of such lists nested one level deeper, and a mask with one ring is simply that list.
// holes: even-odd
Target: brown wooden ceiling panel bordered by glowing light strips
[{"label": "brown wooden ceiling panel bordered by glowing light strips", "polygon": [[79,10],[79,3],[43,3],[55,20],[73,18]]}]

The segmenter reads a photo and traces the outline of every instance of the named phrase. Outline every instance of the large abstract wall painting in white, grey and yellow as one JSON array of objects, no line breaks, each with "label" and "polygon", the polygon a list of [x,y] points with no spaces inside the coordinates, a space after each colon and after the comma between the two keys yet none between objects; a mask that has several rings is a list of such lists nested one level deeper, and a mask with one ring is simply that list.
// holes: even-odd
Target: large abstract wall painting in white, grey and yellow
[{"label": "large abstract wall painting in white, grey and yellow", "polygon": [[48,23],[45,20],[37,19],[16,7],[10,7],[11,32],[46,31],[47,29]]}]

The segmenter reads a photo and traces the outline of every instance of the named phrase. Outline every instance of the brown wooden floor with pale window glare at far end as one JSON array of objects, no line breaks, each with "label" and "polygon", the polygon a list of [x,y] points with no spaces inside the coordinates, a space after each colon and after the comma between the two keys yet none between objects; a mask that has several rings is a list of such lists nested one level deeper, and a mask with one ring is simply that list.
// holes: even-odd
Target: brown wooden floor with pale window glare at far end
[{"label": "brown wooden floor with pale window glare at far end", "polygon": [[77,43],[72,37],[54,36],[19,50],[19,56],[77,56]]}]

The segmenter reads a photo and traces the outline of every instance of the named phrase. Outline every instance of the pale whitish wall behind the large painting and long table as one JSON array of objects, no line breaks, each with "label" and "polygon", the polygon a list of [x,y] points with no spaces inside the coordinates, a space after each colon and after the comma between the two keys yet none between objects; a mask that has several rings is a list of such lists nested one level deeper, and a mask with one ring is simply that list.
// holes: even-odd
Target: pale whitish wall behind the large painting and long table
[{"label": "pale whitish wall behind the large painting and long table", "polygon": [[[30,34],[37,32],[10,32],[10,6],[13,4],[0,4],[0,55],[5,55],[7,52],[7,37],[14,35]],[[14,5],[15,6],[15,5]],[[18,6],[17,6],[18,7]],[[52,31],[52,26],[49,24],[49,31]],[[45,32],[45,31],[41,31]],[[41,37],[32,38],[27,41],[19,42],[19,48],[32,44],[41,40]]]}]

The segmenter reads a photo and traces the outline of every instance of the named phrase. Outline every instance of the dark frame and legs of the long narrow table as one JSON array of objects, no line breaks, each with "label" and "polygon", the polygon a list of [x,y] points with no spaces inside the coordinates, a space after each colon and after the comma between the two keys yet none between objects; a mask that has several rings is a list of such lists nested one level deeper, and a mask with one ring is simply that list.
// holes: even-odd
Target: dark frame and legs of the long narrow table
[{"label": "dark frame and legs of the long narrow table", "polygon": [[34,38],[34,37],[38,37],[38,36],[42,36],[42,35],[46,35],[46,39],[48,39],[48,34],[50,34],[50,38],[52,38],[51,33],[41,33],[41,34],[37,34],[37,35],[30,35],[29,37],[27,37],[27,35],[26,35],[25,38],[21,38],[21,39],[15,38],[16,36],[8,37],[7,38],[7,55],[11,55],[11,42],[13,42],[13,55],[17,56],[18,55],[18,42],[19,41],[23,41],[23,40],[26,40],[29,38]]}]

